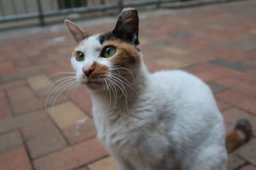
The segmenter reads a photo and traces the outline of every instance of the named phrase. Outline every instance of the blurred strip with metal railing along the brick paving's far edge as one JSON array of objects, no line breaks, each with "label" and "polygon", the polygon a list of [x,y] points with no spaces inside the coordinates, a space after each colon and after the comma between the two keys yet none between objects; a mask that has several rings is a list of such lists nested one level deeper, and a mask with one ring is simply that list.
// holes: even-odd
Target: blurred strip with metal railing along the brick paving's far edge
[{"label": "blurred strip with metal railing along the brick paving's far edge", "polygon": [[[188,0],[185,0],[188,1]],[[218,0],[220,1],[220,0]],[[62,22],[63,18],[73,18],[81,20],[86,18],[102,17],[106,15],[116,15],[127,6],[137,8],[159,8],[164,3],[166,6],[170,2],[180,2],[179,0],[1,0],[1,25],[0,29],[10,27],[22,27],[28,25],[45,25]],[[205,1],[204,3],[212,3]],[[179,5],[180,6],[180,5]],[[14,21],[14,22],[12,22]]]}]

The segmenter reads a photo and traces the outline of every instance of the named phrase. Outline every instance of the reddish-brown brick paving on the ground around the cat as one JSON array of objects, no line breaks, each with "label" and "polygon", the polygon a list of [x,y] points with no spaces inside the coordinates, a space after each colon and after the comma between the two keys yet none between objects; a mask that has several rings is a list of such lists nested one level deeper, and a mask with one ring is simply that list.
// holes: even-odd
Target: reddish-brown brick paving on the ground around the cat
[{"label": "reddish-brown brick paving on the ground around the cat", "polygon": [[[238,1],[175,10],[140,22],[150,71],[185,69],[202,78],[215,94],[227,131],[239,118],[252,122],[253,138],[230,154],[228,169],[256,169],[255,9],[255,1]],[[74,94],[63,92],[45,106],[49,87],[61,76],[46,78],[72,71],[71,39],[61,31],[0,42],[1,170],[115,169],[95,138],[92,103],[83,87]]]}]

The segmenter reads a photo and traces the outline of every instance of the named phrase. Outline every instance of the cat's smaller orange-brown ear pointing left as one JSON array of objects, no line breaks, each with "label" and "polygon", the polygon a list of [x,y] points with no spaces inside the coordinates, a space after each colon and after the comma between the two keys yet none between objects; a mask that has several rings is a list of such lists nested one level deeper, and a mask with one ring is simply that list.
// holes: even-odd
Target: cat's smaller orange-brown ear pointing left
[{"label": "cat's smaller orange-brown ear pointing left", "polygon": [[88,34],[84,32],[83,29],[81,29],[81,27],[77,26],[70,20],[65,20],[65,24],[70,33],[72,34],[72,36],[74,37],[74,39],[77,41],[77,43],[79,43],[88,36]]}]

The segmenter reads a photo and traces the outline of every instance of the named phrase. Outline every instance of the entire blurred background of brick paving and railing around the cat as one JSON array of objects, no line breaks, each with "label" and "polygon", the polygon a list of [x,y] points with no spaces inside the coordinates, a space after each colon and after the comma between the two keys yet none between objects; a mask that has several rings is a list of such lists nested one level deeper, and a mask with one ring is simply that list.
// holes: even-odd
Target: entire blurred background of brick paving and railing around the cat
[{"label": "entire blurred background of brick paving and railing around the cat", "polygon": [[228,170],[256,169],[256,1],[0,0],[0,169],[114,170],[97,140],[92,102],[74,83],[76,46],[63,24],[111,31],[138,9],[150,71],[184,69],[211,87],[227,132],[248,118],[253,137]]}]

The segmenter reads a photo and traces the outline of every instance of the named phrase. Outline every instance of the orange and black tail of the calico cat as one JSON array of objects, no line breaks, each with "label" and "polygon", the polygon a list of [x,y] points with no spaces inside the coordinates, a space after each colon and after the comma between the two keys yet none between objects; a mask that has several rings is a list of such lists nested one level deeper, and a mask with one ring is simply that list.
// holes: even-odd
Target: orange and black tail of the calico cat
[{"label": "orange and black tail of the calico cat", "polygon": [[234,131],[226,136],[226,147],[228,153],[232,152],[238,146],[243,145],[252,136],[252,125],[246,119],[237,121]]}]

